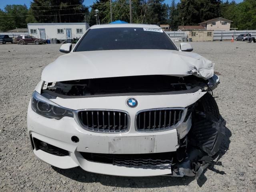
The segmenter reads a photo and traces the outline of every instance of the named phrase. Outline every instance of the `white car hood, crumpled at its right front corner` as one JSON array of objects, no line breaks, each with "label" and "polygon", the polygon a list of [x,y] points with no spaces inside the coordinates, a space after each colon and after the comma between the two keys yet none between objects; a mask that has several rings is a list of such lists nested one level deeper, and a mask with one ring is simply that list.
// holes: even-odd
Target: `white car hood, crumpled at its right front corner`
[{"label": "white car hood, crumpled at its right front corner", "polygon": [[214,63],[192,52],[176,50],[103,50],[70,52],[46,66],[42,80],[108,78],[141,75],[195,75],[208,79]]}]

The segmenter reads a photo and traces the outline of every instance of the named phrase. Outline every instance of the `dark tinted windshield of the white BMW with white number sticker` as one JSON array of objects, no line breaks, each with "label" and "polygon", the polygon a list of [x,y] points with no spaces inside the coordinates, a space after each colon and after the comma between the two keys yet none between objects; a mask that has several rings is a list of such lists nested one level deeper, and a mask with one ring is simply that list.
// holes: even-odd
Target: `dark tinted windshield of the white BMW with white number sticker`
[{"label": "dark tinted windshield of the white BMW with white number sticker", "polygon": [[90,29],[75,51],[124,49],[177,50],[162,29],[122,27]]}]

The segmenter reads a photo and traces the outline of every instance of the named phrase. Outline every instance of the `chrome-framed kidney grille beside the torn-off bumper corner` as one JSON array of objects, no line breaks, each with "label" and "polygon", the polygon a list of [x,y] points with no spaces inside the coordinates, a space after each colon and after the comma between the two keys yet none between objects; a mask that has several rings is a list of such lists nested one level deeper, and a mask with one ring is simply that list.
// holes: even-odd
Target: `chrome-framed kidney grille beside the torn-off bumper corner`
[{"label": "chrome-framed kidney grille beside the torn-off bumper corner", "polygon": [[136,129],[138,132],[165,131],[177,127],[186,115],[185,108],[160,108],[138,112]]}]

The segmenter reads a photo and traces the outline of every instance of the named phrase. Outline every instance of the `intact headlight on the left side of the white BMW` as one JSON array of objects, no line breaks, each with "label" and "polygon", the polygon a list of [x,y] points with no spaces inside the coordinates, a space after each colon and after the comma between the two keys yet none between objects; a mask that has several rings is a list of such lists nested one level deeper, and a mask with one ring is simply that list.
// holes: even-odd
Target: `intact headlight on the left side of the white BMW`
[{"label": "intact headlight on the left side of the white BMW", "polygon": [[71,109],[59,106],[36,91],[32,94],[31,107],[34,112],[47,118],[61,119],[64,116],[74,117]]}]

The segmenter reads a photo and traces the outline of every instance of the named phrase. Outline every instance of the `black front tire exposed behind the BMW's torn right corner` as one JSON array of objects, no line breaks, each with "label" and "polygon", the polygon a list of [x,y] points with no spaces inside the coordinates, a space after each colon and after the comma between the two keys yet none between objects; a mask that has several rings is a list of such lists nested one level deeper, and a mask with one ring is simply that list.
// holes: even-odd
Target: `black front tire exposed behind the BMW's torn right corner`
[{"label": "black front tire exposed behind the BMW's torn right corner", "polygon": [[208,92],[198,100],[197,110],[204,113],[209,113],[220,119],[220,111],[218,105],[212,95]]}]

